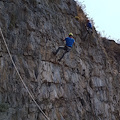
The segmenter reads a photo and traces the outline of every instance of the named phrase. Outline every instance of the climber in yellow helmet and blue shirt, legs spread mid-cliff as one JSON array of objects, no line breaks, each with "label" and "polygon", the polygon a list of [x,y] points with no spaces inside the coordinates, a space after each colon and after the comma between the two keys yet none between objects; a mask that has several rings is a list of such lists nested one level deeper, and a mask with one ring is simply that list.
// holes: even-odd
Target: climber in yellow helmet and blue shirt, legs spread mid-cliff
[{"label": "climber in yellow helmet and blue shirt, legs spread mid-cliff", "polygon": [[71,48],[73,46],[73,43],[75,42],[75,40],[72,37],[73,37],[73,34],[69,33],[69,37],[64,39],[64,41],[66,41],[66,45],[65,46],[60,46],[56,50],[56,52],[53,52],[53,54],[56,55],[60,49],[63,49],[65,51],[63,53],[63,55],[60,57],[60,59],[58,59],[58,61],[61,61],[61,59],[64,57],[64,55],[71,50]]}]

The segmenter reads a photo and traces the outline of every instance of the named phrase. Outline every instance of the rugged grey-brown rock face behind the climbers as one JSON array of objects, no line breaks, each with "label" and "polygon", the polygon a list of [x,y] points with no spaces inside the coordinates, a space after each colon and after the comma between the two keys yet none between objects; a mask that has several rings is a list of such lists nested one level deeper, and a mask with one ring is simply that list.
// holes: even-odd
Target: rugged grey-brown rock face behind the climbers
[{"label": "rugged grey-brown rock face behind the climbers", "polygon": [[[0,26],[13,60],[50,120],[120,120],[120,46],[95,30],[88,35],[85,20],[74,0],[0,1]],[[62,51],[52,51],[69,32],[75,45],[58,62]],[[45,119],[0,37],[0,120]]]}]

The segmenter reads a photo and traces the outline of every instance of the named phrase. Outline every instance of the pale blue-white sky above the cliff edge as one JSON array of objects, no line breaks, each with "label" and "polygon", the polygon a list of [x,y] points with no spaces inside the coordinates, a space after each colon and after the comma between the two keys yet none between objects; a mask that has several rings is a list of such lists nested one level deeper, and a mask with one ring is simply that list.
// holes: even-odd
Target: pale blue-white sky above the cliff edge
[{"label": "pale blue-white sky above the cliff edge", "polygon": [[103,37],[120,40],[120,0],[77,0]]}]

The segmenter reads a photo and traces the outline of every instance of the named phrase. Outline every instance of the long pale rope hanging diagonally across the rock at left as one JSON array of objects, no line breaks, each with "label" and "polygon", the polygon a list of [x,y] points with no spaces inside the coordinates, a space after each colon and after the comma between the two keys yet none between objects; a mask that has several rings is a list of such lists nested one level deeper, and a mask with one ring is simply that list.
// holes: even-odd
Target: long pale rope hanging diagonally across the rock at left
[{"label": "long pale rope hanging diagonally across the rock at left", "polygon": [[3,38],[3,41],[4,41],[4,43],[5,43],[6,49],[7,49],[7,51],[8,51],[8,54],[9,54],[9,56],[10,56],[10,59],[11,59],[13,65],[14,65],[14,67],[15,67],[15,70],[16,70],[18,76],[20,77],[21,82],[23,83],[25,89],[27,90],[27,92],[28,92],[28,94],[30,95],[31,99],[32,99],[33,102],[36,104],[36,106],[39,108],[39,110],[41,111],[41,113],[45,116],[45,118],[46,118],[47,120],[50,120],[50,118],[48,118],[47,115],[42,111],[42,109],[40,108],[40,106],[39,106],[38,103],[35,101],[34,97],[32,96],[32,94],[31,94],[30,91],[28,90],[28,87],[26,86],[25,82],[23,81],[23,79],[22,79],[22,77],[21,77],[21,75],[20,75],[20,73],[19,73],[19,71],[18,71],[18,69],[17,69],[17,67],[16,67],[16,65],[15,65],[15,63],[14,63],[14,61],[13,61],[12,55],[11,55],[11,53],[10,53],[10,51],[9,51],[9,48],[8,48],[8,46],[7,46],[7,43],[6,43],[6,41],[5,41],[5,38],[4,38],[4,35],[3,35],[3,33],[2,33],[1,28],[0,28],[0,32],[1,32],[1,35],[2,35],[2,38]]}]

